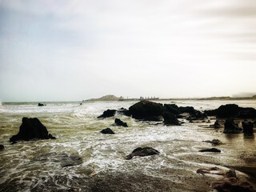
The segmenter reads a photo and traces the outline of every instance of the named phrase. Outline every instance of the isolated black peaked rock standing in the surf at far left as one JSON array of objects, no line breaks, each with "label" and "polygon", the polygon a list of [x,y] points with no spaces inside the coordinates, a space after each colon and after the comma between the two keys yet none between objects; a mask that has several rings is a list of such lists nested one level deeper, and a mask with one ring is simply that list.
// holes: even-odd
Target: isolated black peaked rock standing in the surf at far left
[{"label": "isolated black peaked rock standing in the surf at far left", "polygon": [[22,125],[19,127],[19,132],[10,138],[10,142],[49,138],[54,137],[51,134],[48,134],[46,126],[43,126],[42,122],[40,122],[38,118],[22,118]]}]

